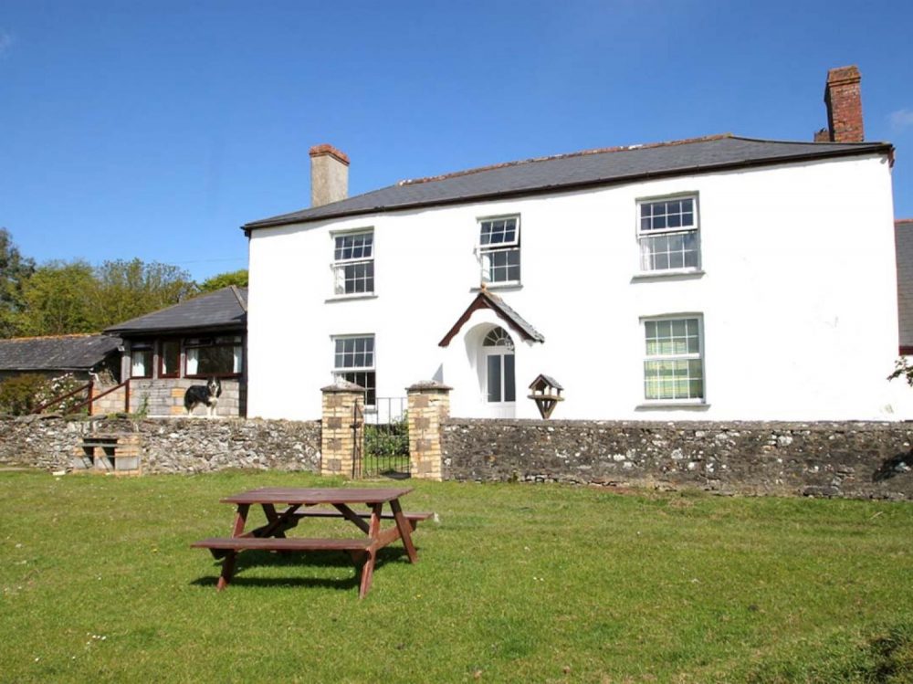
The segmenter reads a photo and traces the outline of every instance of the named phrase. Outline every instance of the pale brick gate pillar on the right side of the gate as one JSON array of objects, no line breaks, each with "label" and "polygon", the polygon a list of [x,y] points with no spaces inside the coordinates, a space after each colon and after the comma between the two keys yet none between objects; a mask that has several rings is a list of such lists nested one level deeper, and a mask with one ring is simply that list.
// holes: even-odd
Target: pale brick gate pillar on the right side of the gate
[{"label": "pale brick gate pillar on the right side of the gate", "polygon": [[452,387],[434,381],[406,388],[409,397],[409,469],[414,478],[442,478],[444,421],[450,416]]}]

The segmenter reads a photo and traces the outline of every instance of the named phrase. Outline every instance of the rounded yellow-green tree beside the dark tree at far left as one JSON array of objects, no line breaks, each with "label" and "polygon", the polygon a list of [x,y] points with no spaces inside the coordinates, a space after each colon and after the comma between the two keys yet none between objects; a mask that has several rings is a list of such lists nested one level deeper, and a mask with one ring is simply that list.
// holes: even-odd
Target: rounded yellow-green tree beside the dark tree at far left
[{"label": "rounded yellow-green tree beside the dark tree at far left", "polygon": [[97,331],[93,310],[96,289],[88,261],[50,261],[35,269],[23,289],[25,309],[16,317],[23,335],[61,335]]}]

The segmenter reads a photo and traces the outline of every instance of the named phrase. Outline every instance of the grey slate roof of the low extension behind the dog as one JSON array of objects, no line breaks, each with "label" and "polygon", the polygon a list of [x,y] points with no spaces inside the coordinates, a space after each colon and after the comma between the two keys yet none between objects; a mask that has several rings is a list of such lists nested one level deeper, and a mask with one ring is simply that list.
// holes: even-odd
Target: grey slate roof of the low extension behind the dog
[{"label": "grey slate roof of the low extension behind the dog", "polygon": [[152,332],[219,331],[247,328],[247,289],[231,285],[180,304],[112,325],[124,336]]}]

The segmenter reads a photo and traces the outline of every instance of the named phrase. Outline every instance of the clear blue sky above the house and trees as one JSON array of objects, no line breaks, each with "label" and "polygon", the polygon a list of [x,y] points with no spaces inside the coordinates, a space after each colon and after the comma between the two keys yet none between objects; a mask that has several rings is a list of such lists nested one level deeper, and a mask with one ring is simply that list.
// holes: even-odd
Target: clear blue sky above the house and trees
[{"label": "clear blue sky above the house and trees", "polygon": [[247,221],[594,147],[811,140],[828,68],[862,71],[866,140],[913,216],[913,3],[0,2],[0,226],[49,259],[247,266]]}]

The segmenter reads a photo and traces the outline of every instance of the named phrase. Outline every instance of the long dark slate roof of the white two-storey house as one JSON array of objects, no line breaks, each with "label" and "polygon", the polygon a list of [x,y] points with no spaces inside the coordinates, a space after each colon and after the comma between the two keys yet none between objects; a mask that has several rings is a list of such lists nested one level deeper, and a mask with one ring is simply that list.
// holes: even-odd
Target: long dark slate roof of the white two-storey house
[{"label": "long dark slate roof of the white two-storey house", "polygon": [[241,227],[249,232],[261,227],[306,223],[323,218],[534,195],[670,175],[798,163],[857,154],[891,155],[893,150],[888,142],[781,142],[741,138],[724,133],[677,142],[560,154],[501,163],[456,174],[401,181],[329,205],[272,216]]}]

